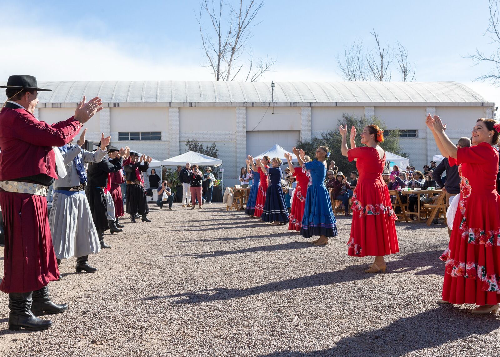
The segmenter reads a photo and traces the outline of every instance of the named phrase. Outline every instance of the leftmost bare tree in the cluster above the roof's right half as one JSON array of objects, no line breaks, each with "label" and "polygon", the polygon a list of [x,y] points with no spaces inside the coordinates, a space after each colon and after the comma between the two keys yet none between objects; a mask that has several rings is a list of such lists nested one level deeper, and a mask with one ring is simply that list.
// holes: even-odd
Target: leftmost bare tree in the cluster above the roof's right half
[{"label": "leftmost bare tree in the cluster above the roof's right half", "polygon": [[350,47],[344,46],[343,55],[337,53],[335,58],[344,80],[368,80],[370,77],[362,41],[355,41]]}]

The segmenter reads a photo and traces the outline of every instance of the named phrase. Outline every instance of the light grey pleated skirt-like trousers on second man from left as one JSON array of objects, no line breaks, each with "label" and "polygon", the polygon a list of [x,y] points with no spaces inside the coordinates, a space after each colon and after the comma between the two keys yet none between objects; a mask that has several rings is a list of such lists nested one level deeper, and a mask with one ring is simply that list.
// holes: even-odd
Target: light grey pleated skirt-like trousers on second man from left
[{"label": "light grey pleated skirt-like trousers on second man from left", "polygon": [[48,223],[58,259],[100,251],[99,237],[84,191],[65,194],[54,190]]}]

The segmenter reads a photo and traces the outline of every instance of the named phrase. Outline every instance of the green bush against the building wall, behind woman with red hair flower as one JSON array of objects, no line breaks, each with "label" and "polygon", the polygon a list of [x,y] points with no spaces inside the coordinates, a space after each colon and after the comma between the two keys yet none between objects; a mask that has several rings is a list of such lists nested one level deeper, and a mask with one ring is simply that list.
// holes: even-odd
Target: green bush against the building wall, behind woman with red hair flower
[{"label": "green bush against the building wall, behind woman with red hair flower", "polygon": [[[344,113],[342,114],[342,119],[338,120],[338,122],[336,123],[335,129],[328,132],[323,132],[320,137],[313,137],[310,141],[297,141],[297,147],[303,149],[305,153],[311,157],[311,159],[314,159],[315,152],[318,146],[327,146],[331,151],[328,161],[335,161],[335,165],[338,166],[338,169],[348,176],[347,172],[356,169],[356,163],[355,161],[349,162],[349,160],[347,160],[347,157],[341,154],[340,144],[342,142],[342,136],[338,132],[338,126],[340,124],[347,125],[347,146],[349,148],[349,132],[352,125],[354,125],[357,131],[357,135],[355,138],[356,146],[362,146],[360,141],[361,137],[359,134],[361,133],[361,131],[363,131],[363,128],[366,125],[375,124],[378,125],[378,127],[380,127],[380,129],[382,130],[385,130],[387,127],[385,126],[383,120],[376,116],[366,118],[364,116],[356,117]],[[380,144],[380,147],[382,147],[385,151],[407,157],[407,154],[403,152],[401,150],[401,147],[399,146],[398,130],[391,130],[389,135],[385,136],[385,139]]]}]

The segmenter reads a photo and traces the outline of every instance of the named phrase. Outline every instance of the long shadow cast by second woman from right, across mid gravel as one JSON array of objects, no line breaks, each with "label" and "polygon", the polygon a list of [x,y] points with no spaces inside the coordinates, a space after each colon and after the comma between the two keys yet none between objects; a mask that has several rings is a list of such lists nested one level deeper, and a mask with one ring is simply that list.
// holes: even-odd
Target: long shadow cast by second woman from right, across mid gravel
[{"label": "long shadow cast by second woman from right, across mid gravel", "polygon": [[267,284],[247,287],[246,289],[213,288],[194,292],[186,292],[169,296],[149,296],[143,300],[154,300],[159,298],[185,297],[172,303],[200,303],[216,300],[228,300],[232,298],[256,295],[269,291],[292,290],[296,288],[307,288],[313,286],[329,285],[339,282],[367,279],[373,274],[363,272],[366,264],[351,265],[342,270],[319,272],[313,275],[295,277],[293,279],[273,281]]}]

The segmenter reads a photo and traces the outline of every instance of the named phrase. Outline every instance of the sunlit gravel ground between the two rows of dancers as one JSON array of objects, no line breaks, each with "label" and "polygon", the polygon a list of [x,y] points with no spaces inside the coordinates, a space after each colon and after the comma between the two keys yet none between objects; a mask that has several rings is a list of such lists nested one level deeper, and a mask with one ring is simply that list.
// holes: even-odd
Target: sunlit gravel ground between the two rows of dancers
[{"label": "sunlit gravel ground between the two rows of dancers", "polygon": [[[400,253],[385,274],[347,255],[350,219],[315,247],[221,204],[151,206],[151,223],[125,223],[91,255],[97,273],[63,261],[49,284],[66,312],[45,331],[9,331],[4,356],[493,356],[500,318],[473,305],[438,305],[444,225],[397,223]],[[181,222],[181,223],[179,223]]]}]

